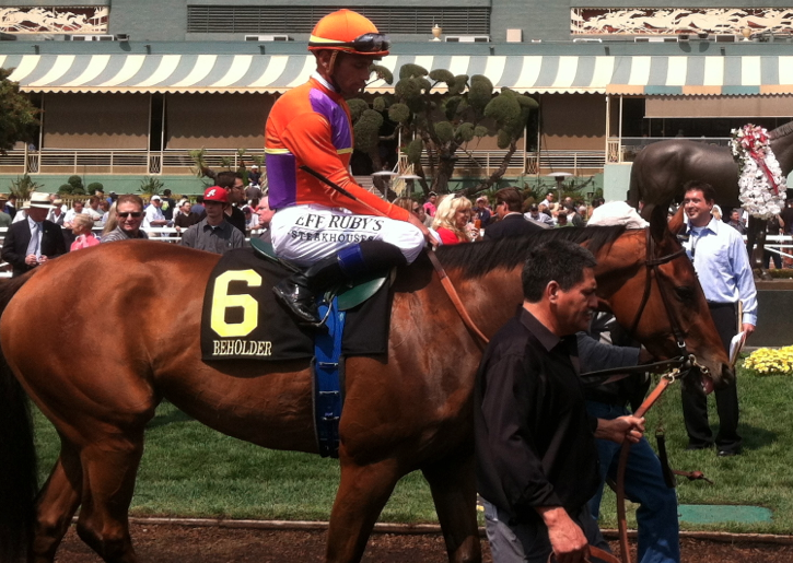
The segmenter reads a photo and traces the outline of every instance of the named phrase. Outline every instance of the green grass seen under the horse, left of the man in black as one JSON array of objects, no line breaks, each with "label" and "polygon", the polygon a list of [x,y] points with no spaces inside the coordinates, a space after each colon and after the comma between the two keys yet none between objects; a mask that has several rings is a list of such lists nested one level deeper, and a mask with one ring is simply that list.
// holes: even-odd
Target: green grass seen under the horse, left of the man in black
[{"label": "green grass seen under the horse, left of the man in black", "polygon": [[[44,482],[59,442],[38,412],[36,436]],[[147,431],[130,514],[327,520],[338,480],[338,460],[241,442],[163,403]],[[429,486],[419,473],[399,482],[381,519],[435,521]]]}]

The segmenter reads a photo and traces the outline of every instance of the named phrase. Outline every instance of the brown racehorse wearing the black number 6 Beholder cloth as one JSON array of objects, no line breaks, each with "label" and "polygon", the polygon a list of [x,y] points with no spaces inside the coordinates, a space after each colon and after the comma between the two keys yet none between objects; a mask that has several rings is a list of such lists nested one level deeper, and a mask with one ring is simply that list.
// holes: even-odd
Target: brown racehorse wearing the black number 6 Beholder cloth
[{"label": "brown racehorse wearing the black number 6 Beholder cloth", "polygon": [[[645,232],[621,227],[556,230],[529,239],[441,248],[438,256],[470,316],[490,337],[522,302],[521,269],[532,244],[556,236],[587,245],[598,259],[604,307],[632,326],[646,275],[652,275],[635,336],[658,357],[677,355],[674,316],[688,350],[716,382],[730,380],[733,374],[693,269],[685,256],[672,256],[679,245],[663,214],[650,232],[655,258],[670,258],[656,274],[645,267],[653,258],[646,256]],[[28,551],[31,562],[51,562],[80,507],[77,531],[89,546],[107,562],[137,561],[127,511],[144,429],[163,398],[237,438],[317,451],[307,361],[209,365],[200,360],[203,289],[217,262],[215,255],[162,243],[114,243],[4,282],[0,343],[13,375],[5,368],[0,377],[0,390],[8,391],[0,394],[0,455],[5,455],[0,457],[0,501],[18,499],[0,502],[0,524],[32,514],[25,509],[32,502],[20,500],[25,496],[20,491],[31,489],[32,469],[13,444],[8,446],[10,432],[23,445],[30,443],[24,425],[9,427],[25,421],[14,376],[61,438],[60,457],[38,493],[33,530],[25,538],[19,524],[0,528],[7,550],[16,546]],[[398,272],[393,290],[387,356],[346,363],[341,480],[327,561],[359,561],[396,482],[419,469],[429,481],[450,561],[477,562],[471,392],[481,345],[425,257]],[[60,298],[47,298],[54,294]],[[82,295],[102,303],[102,314],[89,314],[95,309],[84,306]]]}]

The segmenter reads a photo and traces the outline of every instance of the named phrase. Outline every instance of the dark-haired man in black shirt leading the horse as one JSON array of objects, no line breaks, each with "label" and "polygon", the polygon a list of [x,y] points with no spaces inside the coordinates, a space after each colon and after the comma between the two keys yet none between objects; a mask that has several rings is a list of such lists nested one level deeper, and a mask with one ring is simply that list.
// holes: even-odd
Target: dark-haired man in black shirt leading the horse
[{"label": "dark-haired man in black shirt leading the horse", "polygon": [[586,507],[598,486],[595,437],[635,443],[644,420],[586,414],[575,332],[597,306],[595,263],[565,241],[533,249],[523,307],[477,374],[477,488],[495,563],[546,562],[551,551],[579,563],[587,543],[608,549]]}]

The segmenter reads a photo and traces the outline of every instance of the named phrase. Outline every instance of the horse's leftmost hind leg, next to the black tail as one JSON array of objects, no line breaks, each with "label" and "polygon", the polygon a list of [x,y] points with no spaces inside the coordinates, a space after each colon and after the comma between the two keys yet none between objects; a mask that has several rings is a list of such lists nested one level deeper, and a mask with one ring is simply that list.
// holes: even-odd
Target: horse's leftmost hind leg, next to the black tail
[{"label": "horse's leftmost hind leg, next to the black tail", "polygon": [[51,563],[71,517],[80,504],[82,490],[80,457],[72,446],[61,445],[60,457],[38,497],[38,514],[33,537],[32,563]]}]

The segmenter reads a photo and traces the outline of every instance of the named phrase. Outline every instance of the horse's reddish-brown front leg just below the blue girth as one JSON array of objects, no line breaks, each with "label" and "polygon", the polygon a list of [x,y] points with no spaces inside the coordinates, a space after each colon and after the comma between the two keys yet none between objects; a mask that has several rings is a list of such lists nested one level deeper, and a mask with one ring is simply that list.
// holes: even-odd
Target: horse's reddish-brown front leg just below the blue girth
[{"label": "horse's reddish-brown front leg just below the blue girth", "polygon": [[361,561],[366,541],[401,474],[394,460],[358,466],[341,459],[341,481],[330,512],[327,561]]}]

